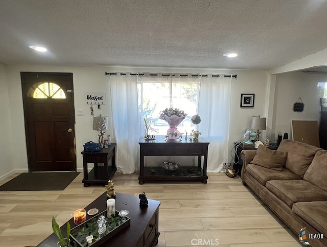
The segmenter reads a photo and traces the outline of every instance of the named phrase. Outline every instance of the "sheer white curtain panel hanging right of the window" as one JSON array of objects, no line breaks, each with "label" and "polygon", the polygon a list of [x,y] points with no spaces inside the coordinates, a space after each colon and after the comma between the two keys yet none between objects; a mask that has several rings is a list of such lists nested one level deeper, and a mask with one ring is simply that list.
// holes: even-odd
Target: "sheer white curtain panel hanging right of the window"
[{"label": "sheer white curtain panel hanging right of the window", "polygon": [[230,115],[231,78],[201,77],[198,114],[199,131],[210,144],[208,147],[208,172],[219,172],[222,163],[228,162],[228,137]]}]

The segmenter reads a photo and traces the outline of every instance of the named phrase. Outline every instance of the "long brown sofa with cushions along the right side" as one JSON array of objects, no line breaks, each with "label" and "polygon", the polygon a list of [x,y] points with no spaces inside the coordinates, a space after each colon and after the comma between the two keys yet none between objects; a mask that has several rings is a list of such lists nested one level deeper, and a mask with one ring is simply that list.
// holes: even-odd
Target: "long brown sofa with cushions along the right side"
[{"label": "long brown sofa with cushions along the right side", "polygon": [[[241,178],[296,234],[311,246],[327,246],[327,151],[283,140],[241,152]],[[300,241],[300,240],[299,240]]]}]

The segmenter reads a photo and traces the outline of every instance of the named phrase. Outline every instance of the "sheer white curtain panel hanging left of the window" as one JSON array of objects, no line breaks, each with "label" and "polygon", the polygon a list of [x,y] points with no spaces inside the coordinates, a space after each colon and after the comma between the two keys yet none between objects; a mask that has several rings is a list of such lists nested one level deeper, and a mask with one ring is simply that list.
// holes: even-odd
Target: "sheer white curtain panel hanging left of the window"
[{"label": "sheer white curtain panel hanging left of the window", "polygon": [[132,174],[139,166],[137,77],[130,76],[129,73],[116,73],[109,78],[113,138],[117,143],[116,166],[123,174]]}]

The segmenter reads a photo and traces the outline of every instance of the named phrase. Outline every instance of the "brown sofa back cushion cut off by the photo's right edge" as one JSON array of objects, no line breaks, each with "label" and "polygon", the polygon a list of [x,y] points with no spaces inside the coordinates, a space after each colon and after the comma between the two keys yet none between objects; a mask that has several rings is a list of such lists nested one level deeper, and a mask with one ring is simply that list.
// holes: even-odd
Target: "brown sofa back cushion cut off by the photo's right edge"
[{"label": "brown sofa back cushion cut off by the photo's right edge", "polygon": [[307,169],[303,180],[306,180],[320,189],[327,191],[327,151],[318,151]]}]

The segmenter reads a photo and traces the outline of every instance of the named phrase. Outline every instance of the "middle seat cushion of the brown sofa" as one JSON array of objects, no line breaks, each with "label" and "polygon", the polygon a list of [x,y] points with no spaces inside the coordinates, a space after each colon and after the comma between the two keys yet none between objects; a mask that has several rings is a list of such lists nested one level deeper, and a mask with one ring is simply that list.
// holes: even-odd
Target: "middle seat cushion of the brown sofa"
[{"label": "middle seat cushion of the brown sofa", "polygon": [[327,201],[327,191],[304,180],[270,180],[266,188],[290,208],[297,202]]}]

